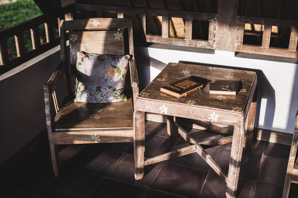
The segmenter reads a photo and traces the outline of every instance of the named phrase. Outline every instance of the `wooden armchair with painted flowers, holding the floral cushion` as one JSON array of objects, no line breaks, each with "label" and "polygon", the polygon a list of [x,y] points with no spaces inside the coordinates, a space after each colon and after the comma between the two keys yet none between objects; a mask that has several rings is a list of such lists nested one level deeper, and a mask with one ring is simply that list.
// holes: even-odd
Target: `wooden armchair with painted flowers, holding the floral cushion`
[{"label": "wooden armchair with painted flowers, holding the floral cushion", "polygon": [[[69,31],[70,52],[67,50],[66,31]],[[113,103],[73,102],[77,51],[130,54],[132,56],[129,62],[130,75],[126,77],[125,86],[128,100]],[[64,81],[66,94],[61,108],[58,106],[55,92],[60,79]],[[55,176],[58,176],[58,145],[133,142],[133,102],[139,94],[139,89],[131,20],[123,18],[62,20],[61,63],[44,85],[44,93]]]}]

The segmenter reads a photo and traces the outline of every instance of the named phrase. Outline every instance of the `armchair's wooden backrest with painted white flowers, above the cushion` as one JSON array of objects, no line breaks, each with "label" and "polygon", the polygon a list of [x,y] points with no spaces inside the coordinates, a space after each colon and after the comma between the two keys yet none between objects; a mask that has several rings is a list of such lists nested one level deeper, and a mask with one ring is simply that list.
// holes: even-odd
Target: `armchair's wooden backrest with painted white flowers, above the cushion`
[{"label": "armchair's wooden backrest with painted white flowers, above the cushion", "polygon": [[[128,19],[125,18],[89,18],[64,21],[61,25],[61,33],[66,35],[69,31],[70,45],[70,70],[72,73],[72,85],[74,86],[76,52],[85,51],[95,54],[126,55],[130,54],[125,48]],[[61,59],[66,60],[65,37],[61,37]],[[134,54],[131,54],[134,55]],[[127,78],[128,79],[128,78]]]}]

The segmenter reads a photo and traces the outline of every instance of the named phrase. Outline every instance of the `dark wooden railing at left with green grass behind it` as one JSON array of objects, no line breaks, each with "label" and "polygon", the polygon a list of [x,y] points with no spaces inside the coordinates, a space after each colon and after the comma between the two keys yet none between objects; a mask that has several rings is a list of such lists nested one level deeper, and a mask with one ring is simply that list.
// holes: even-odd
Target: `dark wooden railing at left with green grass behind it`
[{"label": "dark wooden railing at left with green grass behind it", "polygon": [[[53,25],[57,23],[60,29],[60,20],[65,14],[75,12],[75,5],[71,4],[55,12],[55,15],[41,15],[14,27],[0,31],[0,75],[17,67],[18,65],[36,57],[37,55],[58,46],[59,37],[54,38]],[[46,43],[41,45],[38,26],[45,24]],[[30,30],[32,49],[26,51],[24,42],[24,32]],[[59,31],[60,32],[60,31]],[[7,50],[7,39],[14,37],[17,57],[9,60]]]}]

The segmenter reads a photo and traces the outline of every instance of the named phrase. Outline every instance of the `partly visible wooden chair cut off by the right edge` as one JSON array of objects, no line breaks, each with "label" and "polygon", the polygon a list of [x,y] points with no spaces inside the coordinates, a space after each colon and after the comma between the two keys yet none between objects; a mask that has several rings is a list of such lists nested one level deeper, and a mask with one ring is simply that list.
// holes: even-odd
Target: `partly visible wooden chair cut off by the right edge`
[{"label": "partly visible wooden chair cut off by the right edge", "polygon": [[288,169],[287,169],[283,198],[288,198],[291,182],[298,184],[297,146],[298,146],[298,111],[296,113],[295,130],[293,134],[292,147],[291,147],[290,157],[288,162]]}]

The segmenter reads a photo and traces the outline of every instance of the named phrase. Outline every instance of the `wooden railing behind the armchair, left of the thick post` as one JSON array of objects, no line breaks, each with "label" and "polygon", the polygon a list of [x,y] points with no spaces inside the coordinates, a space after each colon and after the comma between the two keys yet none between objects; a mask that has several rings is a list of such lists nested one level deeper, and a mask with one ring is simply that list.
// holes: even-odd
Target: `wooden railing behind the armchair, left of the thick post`
[{"label": "wooden railing behind the armchair, left of the thick post", "polygon": [[[153,9],[153,8],[136,8],[123,6],[109,6],[109,5],[91,5],[91,4],[77,4],[77,11],[96,11],[100,16],[102,12],[117,13],[123,15],[125,13],[139,15],[143,34],[146,41],[149,43],[172,44],[178,46],[188,46],[205,49],[215,49],[215,30],[216,30],[216,16],[214,13],[190,12],[179,10]],[[149,35],[146,31],[146,16],[161,16],[162,27],[160,35]],[[185,38],[169,37],[169,19],[170,17],[179,17],[185,19]],[[208,41],[193,39],[192,23],[194,19],[209,21]]]}]

